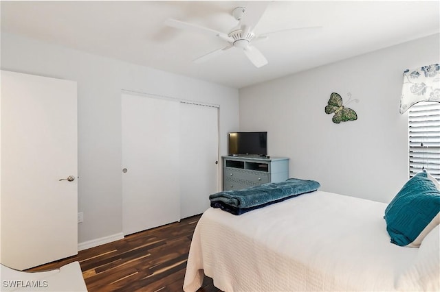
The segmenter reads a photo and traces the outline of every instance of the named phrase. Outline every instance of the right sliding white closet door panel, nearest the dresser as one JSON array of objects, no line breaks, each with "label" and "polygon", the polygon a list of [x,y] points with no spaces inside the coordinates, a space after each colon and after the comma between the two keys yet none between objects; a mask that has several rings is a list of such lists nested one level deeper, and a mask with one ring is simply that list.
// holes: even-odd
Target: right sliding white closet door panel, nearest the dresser
[{"label": "right sliding white closet door panel, nearest the dresser", "polygon": [[209,208],[208,196],[219,191],[218,110],[181,104],[180,202],[181,218]]}]

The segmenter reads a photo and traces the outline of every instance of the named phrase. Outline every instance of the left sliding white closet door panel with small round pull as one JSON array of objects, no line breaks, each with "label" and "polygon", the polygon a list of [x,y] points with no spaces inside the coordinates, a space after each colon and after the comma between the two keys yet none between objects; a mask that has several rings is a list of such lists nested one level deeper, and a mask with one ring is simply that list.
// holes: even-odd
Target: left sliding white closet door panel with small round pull
[{"label": "left sliding white closet door panel with small round pull", "polygon": [[122,95],[122,229],[179,221],[179,103]]}]

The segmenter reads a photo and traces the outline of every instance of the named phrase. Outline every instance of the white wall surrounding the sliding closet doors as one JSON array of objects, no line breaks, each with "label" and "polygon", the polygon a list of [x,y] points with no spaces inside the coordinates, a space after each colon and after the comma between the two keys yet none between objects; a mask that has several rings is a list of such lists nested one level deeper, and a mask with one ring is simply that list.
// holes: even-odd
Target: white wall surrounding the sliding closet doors
[{"label": "white wall surrounding the sliding closet doors", "polygon": [[122,232],[121,90],[218,104],[220,154],[239,125],[239,92],[217,84],[1,34],[1,69],[78,82],[80,243]]}]

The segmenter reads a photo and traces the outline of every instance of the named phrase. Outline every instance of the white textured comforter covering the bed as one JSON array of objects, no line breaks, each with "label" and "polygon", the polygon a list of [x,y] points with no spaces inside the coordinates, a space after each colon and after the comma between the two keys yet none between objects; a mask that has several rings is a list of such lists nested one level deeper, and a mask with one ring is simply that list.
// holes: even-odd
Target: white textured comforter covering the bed
[{"label": "white textured comforter covering the bed", "polygon": [[417,277],[401,280],[419,249],[390,243],[385,208],[322,191],[240,216],[210,208],[192,238],[184,291],[201,287],[203,271],[228,292],[426,289]]}]

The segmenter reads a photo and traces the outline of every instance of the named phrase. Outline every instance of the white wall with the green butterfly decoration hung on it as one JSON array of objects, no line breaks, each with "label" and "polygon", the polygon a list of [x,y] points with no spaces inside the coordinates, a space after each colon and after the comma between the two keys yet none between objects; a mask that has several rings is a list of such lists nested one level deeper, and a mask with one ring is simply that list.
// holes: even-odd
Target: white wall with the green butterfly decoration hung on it
[{"label": "white wall with the green butterfly decoration hung on it", "polygon": [[[408,180],[408,114],[399,114],[405,69],[439,62],[439,34],[239,90],[240,130],[267,131],[270,156],[322,191],[389,202]],[[335,124],[331,93],[357,121]]]}]

